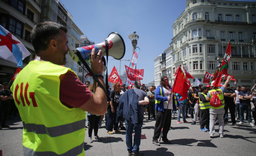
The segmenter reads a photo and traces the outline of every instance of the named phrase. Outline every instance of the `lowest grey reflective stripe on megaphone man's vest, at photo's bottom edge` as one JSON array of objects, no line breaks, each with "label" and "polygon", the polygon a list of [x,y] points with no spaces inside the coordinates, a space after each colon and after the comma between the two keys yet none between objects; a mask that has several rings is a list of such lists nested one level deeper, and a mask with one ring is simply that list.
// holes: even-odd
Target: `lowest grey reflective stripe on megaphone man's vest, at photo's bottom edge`
[{"label": "lowest grey reflective stripe on megaphone man's vest, at photo's bottom edge", "polygon": [[[66,153],[60,154],[59,156],[70,156],[70,155],[81,155],[81,153],[83,152],[84,148],[84,143],[82,143],[81,145],[72,148],[71,150],[67,151]],[[56,156],[57,154],[55,152],[49,152],[49,151],[45,151],[45,152],[35,152],[34,150],[30,149],[30,148],[26,148],[23,146],[23,151],[24,151],[24,155],[37,155],[37,156]],[[85,154],[84,154],[85,155]]]}]

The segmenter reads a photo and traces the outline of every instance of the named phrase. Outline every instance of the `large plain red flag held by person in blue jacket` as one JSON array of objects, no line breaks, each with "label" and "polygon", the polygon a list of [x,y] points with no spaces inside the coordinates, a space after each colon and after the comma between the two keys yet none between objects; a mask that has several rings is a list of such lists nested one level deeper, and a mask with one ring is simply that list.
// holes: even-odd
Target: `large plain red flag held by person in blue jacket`
[{"label": "large plain red flag held by person in blue jacket", "polygon": [[188,89],[189,85],[187,84],[186,77],[184,72],[181,70],[181,68],[178,68],[177,76],[175,78],[175,81],[173,83],[172,91],[173,93],[178,93],[182,96],[180,99],[185,100],[188,97]]}]

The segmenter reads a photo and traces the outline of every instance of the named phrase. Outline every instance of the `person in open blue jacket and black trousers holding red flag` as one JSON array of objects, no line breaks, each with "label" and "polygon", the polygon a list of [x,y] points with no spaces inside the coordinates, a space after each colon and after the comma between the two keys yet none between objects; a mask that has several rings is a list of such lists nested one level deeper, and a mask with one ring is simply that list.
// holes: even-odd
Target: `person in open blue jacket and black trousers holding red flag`
[{"label": "person in open blue jacket and black trousers holding red flag", "polygon": [[[174,98],[175,94],[173,94],[171,91],[172,91],[172,88],[169,84],[169,80],[167,76],[162,76],[160,86],[158,86],[155,91],[155,99],[156,99],[155,110],[156,110],[157,120],[155,124],[152,143],[155,144],[156,146],[160,146],[158,142],[158,138],[160,137],[162,127],[163,127],[162,141],[165,143],[171,144],[171,142],[167,139],[167,133],[171,126],[171,115],[172,115],[171,111],[172,110],[176,111],[176,105],[175,105],[176,103],[178,104],[178,107],[181,109],[180,101]],[[168,105],[168,109],[167,109],[167,105]],[[165,114],[166,114],[166,118],[165,118]]]}]

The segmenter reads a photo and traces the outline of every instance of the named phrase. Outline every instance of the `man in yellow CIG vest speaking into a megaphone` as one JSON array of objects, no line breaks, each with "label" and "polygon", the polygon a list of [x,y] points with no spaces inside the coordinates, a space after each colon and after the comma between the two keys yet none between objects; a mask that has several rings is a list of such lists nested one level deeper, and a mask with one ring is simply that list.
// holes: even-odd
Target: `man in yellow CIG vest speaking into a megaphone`
[{"label": "man in yellow CIG vest speaking into a megaphone", "polygon": [[[84,156],[85,111],[97,115],[107,111],[107,97],[98,84],[93,95],[70,68],[61,66],[70,50],[66,33],[61,24],[37,24],[30,34],[36,58],[11,86],[23,122],[25,156]],[[91,69],[104,86],[103,63],[100,56],[95,57],[95,49]]]}]

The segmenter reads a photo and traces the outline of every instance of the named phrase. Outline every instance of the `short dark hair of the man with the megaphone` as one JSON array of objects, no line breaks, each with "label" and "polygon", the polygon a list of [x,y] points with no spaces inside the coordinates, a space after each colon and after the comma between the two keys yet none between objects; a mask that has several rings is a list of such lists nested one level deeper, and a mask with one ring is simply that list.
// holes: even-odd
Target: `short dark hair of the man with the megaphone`
[{"label": "short dark hair of the man with the megaphone", "polygon": [[34,47],[36,54],[39,51],[46,50],[51,39],[58,39],[57,35],[63,30],[68,32],[67,28],[55,22],[42,22],[34,26],[30,34],[30,40]]}]

